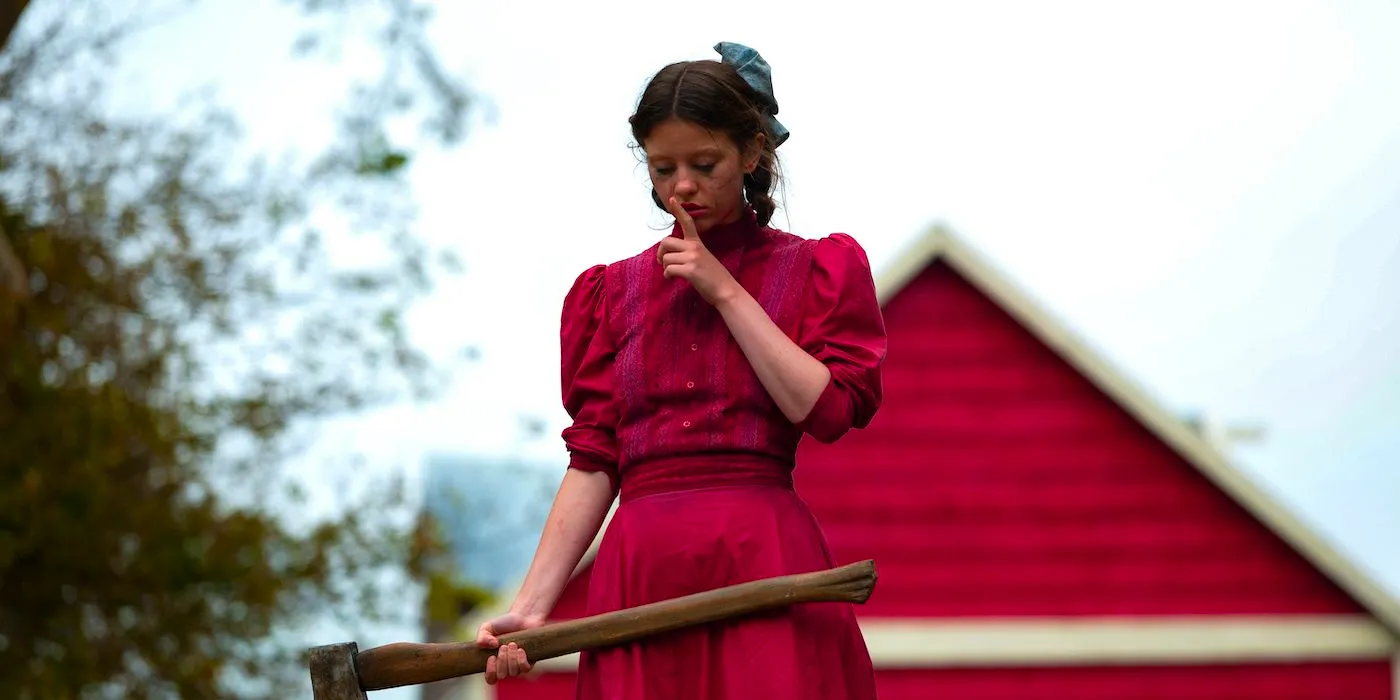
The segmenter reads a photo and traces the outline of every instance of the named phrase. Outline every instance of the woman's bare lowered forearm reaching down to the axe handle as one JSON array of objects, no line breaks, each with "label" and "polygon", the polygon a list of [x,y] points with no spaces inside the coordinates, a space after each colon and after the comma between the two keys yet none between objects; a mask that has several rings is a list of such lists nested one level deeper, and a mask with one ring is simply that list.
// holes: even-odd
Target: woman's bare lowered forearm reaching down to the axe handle
[{"label": "woman's bare lowered forearm reaching down to the axe handle", "polygon": [[539,617],[549,615],[578,560],[598,535],[612,500],[613,489],[606,473],[564,472],[511,612]]}]

